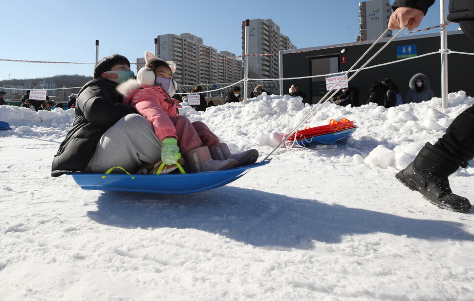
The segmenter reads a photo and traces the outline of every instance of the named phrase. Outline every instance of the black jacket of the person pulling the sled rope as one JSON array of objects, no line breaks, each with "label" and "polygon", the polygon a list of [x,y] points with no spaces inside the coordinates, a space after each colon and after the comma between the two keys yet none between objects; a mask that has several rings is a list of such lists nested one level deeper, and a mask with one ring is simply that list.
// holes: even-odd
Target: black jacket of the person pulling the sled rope
[{"label": "black jacket of the person pulling the sled rope", "polygon": [[[434,0],[396,0],[393,2],[392,9],[398,7],[412,7],[422,10],[426,15],[428,8],[433,5]],[[473,0],[450,0],[448,20],[452,22],[461,22],[474,20],[474,1]]]}]

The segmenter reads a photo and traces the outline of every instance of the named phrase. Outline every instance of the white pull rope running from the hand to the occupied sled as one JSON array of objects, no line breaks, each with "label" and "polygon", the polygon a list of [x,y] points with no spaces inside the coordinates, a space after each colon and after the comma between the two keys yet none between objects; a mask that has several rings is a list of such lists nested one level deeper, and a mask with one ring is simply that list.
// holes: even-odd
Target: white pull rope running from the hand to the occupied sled
[{"label": "white pull rope running from the hand to the occupied sled", "polygon": [[[385,47],[388,46],[388,44],[393,40],[395,39],[405,28],[407,28],[407,25],[405,25],[402,29],[400,29],[396,35],[394,35],[393,37],[390,38],[390,40],[388,40],[383,46],[382,48],[380,48],[370,59],[368,59],[356,72],[354,72],[354,74],[347,79],[347,81],[349,80],[352,80],[360,71],[362,71],[362,69],[364,69],[364,67],[371,61],[373,60],[380,52],[382,52],[382,50],[385,49]],[[375,40],[372,45],[366,50],[366,52],[359,58],[359,60],[357,60],[353,65],[352,67],[350,67],[349,70],[345,71],[344,72],[344,75],[335,83],[335,86],[337,86],[341,80],[343,80],[343,78],[349,74],[349,72],[351,72],[355,66],[357,66],[357,64],[367,55],[367,53],[372,50],[372,48],[377,44],[377,42],[382,39],[384,37],[384,35],[388,32],[388,28],[384,31],[384,33],[382,33],[382,35],[380,35],[380,37]],[[295,134],[298,129],[302,126],[302,124],[304,122],[306,122],[311,116],[313,116],[314,114],[316,114],[320,109],[321,107],[323,106],[323,104],[325,102],[327,102],[327,100],[331,99],[334,95],[336,95],[340,90],[342,89],[342,86],[339,87],[335,92],[332,93],[332,95],[330,97],[327,97],[331,91],[327,91],[327,93],[323,96],[323,98],[318,102],[316,103],[313,108],[311,109],[311,111],[308,112],[308,114],[306,114],[305,117],[303,117],[303,119],[293,128],[293,130],[291,131],[290,134],[288,134],[283,140],[281,140],[281,142],[275,146],[275,148],[263,159],[263,161],[267,160],[277,149],[279,149],[281,147],[281,145],[283,145],[283,143],[286,142],[286,140],[288,140],[290,138],[291,135]],[[295,135],[296,137],[296,135]]]}]

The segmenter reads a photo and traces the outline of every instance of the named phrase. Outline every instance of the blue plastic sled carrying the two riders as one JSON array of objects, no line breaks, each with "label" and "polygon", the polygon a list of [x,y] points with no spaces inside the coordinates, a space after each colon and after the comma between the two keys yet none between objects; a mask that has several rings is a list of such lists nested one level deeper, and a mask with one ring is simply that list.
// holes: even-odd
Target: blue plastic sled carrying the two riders
[{"label": "blue plastic sled carrying the two riders", "polygon": [[187,194],[213,189],[236,181],[254,167],[270,160],[219,171],[193,174],[124,175],[124,174],[67,174],[87,190],[131,191],[162,194]]}]

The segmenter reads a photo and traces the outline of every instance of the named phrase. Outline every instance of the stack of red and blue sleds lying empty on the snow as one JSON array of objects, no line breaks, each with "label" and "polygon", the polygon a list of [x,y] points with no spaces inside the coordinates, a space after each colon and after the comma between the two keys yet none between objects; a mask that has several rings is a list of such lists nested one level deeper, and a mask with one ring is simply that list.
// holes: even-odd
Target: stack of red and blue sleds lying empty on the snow
[{"label": "stack of red and blue sleds lying empty on the snow", "polygon": [[297,131],[288,138],[287,142],[294,142],[303,147],[310,147],[314,144],[331,144],[351,136],[356,128],[354,121],[345,118],[340,121],[331,119],[328,125],[308,126],[304,130]]}]

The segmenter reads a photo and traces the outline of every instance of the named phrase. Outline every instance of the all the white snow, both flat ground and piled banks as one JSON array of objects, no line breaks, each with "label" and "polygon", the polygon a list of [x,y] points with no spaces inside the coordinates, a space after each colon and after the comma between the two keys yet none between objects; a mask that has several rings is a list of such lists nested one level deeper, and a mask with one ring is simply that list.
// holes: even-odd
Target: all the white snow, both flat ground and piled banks
[{"label": "all the white snow, both flat ground and piled banks", "polygon": [[[277,150],[226,186],[188,195],[82,190],[50,177],[74,110],[0,106],[1,300],[473,300],[474,215],[439,209],[395,179],[474,99],[385,109],[327,103],[304,126],[345,117],[332,151]],[[311,107],[260,96],[197,113],[260,160]],[[474,162],[471,162],[471,166]],[[474,201],[474,168],[450,177]]]}]

